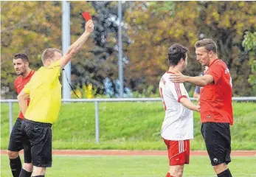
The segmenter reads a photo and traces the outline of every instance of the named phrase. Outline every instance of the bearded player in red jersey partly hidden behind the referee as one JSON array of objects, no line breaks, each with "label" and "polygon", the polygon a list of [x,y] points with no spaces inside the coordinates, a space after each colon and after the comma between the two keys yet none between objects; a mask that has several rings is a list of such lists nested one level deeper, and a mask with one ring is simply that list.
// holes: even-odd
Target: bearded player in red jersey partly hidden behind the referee
[{"label": "bearded player in red jersey partly hidden behind the referee", "polygon": [[[24,86],[30,81],[30,78],[35,73],[29,67],[30,61],[27,55],[18,53],[14,55],[13,58],[13,67],[15,69],[18,77],[14,80],[14,87],[17,94],[21,92]],[[30,103],[30,100],[27,100],[27,104]],[[10,168],[13,173],[13,177],[20,176],[31,176],[32,173],[32,164],[31,164],[31,153],[23,146],[23,138],[21,134],[21,122],[24,119],[24,115],[21,113],[18,114],[15,124],[13,125],[13,130],[10,134],[10,142],[8,146],[8,156],[10,159]],[[18,155],[19,151],[24,149],[24,167],[21,170],[21,159]]]}]

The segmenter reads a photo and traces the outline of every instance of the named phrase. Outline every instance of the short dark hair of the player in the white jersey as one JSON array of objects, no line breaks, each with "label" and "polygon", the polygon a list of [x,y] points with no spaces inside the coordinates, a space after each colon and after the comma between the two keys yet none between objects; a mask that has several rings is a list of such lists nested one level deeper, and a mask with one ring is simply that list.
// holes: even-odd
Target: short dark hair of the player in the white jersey
[{"label": "short dark hair of the player in the white jersey", "polygon": [[173,44],[168,49],[168,60],[170,65],[176,66],[181,58],[186,60],[186,54],[189,50],[181,44]]}]

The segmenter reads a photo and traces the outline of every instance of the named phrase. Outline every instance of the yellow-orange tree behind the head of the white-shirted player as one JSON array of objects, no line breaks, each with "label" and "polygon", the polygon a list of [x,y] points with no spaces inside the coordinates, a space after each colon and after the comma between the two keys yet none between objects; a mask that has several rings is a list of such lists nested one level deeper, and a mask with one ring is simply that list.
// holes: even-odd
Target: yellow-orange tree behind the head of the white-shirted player
[{"label": "yellow-orange tree behind the head of the white-shirted player", "polygon": [[[190,6],[196,5],[196,2],[190,3]],[[130,72],[127,75],[134,90],[142,91],[148,85],[154,86],[154,91],[158,89],[159,77],[168,68],[167,49],[171,44],[180,43],[193,51],[197,40],[193,22],[198,13],[185,8],[187,6],[173,1],[136,2],[127,13],[128,35],[133,42],[128,46]],[[190,15],[184,15],[185,10]],[[196,69],[190,67],[189,74],[200,69],[195,60],[190,60],[190,66]]]}]

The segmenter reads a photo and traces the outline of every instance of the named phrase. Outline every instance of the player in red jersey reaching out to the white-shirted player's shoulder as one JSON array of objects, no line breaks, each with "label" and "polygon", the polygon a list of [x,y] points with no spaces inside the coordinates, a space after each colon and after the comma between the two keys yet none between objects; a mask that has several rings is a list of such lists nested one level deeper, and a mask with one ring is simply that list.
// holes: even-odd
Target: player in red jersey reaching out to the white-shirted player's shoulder
[{"label": "player in red jersey reaching out to the white-shirted player's shoulder", "polygon": [[189,77],[177,72],[170,74],[170,80],[203,87],[200,92],[201,134],[217,176],[230,177],[227,164],[231,162],[232,78],[226,63],[218,58],[217,45],[212,39],[197,41],[195,47],[196,59],[202,66],[209,67],[204,76]]}]

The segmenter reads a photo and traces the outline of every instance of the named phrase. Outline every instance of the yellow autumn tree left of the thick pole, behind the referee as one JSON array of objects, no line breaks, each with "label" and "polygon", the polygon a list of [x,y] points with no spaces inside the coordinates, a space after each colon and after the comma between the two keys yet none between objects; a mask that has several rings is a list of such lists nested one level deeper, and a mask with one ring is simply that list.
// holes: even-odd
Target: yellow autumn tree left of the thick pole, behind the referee
[{"label": "yellow autumn tree left of the thick pole, behind the referee", "polygon": [[15,97],[15,53],[26,53],[30,67],[38,69],[45,48],[61,48],[60,15],[58,1],[1,2],[1,97]]}]

